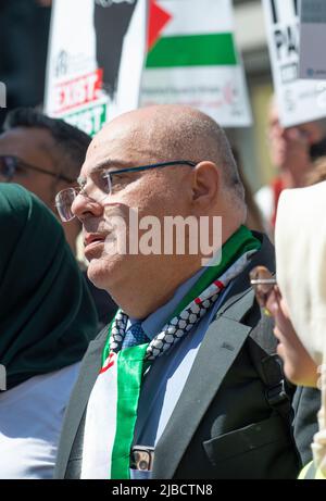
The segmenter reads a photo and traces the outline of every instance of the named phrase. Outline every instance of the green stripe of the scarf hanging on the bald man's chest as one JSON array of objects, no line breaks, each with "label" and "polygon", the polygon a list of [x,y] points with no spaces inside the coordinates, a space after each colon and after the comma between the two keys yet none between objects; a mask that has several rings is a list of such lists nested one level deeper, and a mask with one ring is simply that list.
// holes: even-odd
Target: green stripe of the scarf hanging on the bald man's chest
[{"label": "green stripe of the scarf hanging on the bald man's chest", "polygon": [[148,343],[127,348],[121,351],[117,356],[116,431],[110,477],[113,479],[130,478],[129,455],[147,347]]}]

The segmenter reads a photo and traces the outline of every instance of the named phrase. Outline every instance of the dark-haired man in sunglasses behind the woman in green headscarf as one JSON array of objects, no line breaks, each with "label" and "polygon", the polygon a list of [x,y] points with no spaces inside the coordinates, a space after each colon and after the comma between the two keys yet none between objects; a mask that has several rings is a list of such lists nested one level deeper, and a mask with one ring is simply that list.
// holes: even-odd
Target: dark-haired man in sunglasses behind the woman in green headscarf
[{"label": "dark-haired man in sunglasses behind the woman in green headscarf", "polygon": [[[0,183],[17,183],[37,195],[58,216],[57,191],[74,186],[86,155],[90,137],[37,110],[20,108],[8,113],[0,135]],[[63,226],[88,288],[96,302],[99,329],[113,317],[116,305],[110,296],[97,289],[86,275],[87,262],[80,258],[80,222]]]}]

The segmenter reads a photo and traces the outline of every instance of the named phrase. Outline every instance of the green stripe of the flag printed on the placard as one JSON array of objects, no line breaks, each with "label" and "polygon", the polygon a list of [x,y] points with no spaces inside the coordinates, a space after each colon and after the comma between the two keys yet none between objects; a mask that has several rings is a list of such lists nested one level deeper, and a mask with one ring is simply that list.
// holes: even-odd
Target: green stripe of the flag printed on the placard
[{"label": "green stripe of the flag printed on the placard", "polygon": [[163,37],[147,57],[146,67],[237,65],[231,33]]}]

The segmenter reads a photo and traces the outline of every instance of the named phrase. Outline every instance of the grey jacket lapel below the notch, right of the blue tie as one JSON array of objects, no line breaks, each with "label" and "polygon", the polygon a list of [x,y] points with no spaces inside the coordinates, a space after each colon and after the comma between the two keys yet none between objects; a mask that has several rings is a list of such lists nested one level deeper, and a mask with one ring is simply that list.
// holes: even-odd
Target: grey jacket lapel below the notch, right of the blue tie
[{"label": "grey jacket lapel below the notch, right of the blue tie", "polygon": [[[249,298],[251,304],[252,300],[252,297]],[[248,304],[247,301],[244,303],[246,311]],[[196,429],[251,329],[233,318],[218,317],[218,314],[210,325],[181,396],[155,447],[153,478],[173,478]],[[185,423],[187,426],[184,426]]]}]

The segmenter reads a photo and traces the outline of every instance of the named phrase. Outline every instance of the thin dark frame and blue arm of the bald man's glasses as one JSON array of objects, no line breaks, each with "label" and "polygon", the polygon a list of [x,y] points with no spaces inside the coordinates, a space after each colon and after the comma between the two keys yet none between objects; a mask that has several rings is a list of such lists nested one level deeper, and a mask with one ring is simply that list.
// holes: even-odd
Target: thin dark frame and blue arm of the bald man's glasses
[{"label": "thin dark frame and blue arm of the bald man's glasses", "polygon": [[[117,171],[110,171],[105,170],[105,167],[100,167],[96,168],[95,172],[101,172],[103,173],[103,177],[108,179],[108,186],[106,190],[108,192],[103,192],[103,198],[106,198],[108,196],[112,195],[112,180],[111,177],[116,175],[116,174],[124,174],[124,173],[129,173],[129,172],[142,172],[142,171],[149,171],[151,168],[162,168],[162,167],[171,167],[174,165],[189,165],[190,167],[196,167],[197,162],[192,162],[190,160],[175,160],[171,162],[161,162],[161,163],[153,163],[153,164],[148,164],[148,165],[139,165],[137,167],[126,167],[126,168],[120,168]],[[58,213],[61,217],[61,220],[64,223],[67,223],[68,221],[72,221],[75,215],[72,212],[72,204],[75,200],[75,198],[78,195],[83,195],[84,197],[87,197],[89,199],[92,199],[86,191],[86,180],[83,180],[80,183],[82,186],[75,187],[75,188],[66,188],[61,191],[55,197],[55,206],[58,210]]]}]

